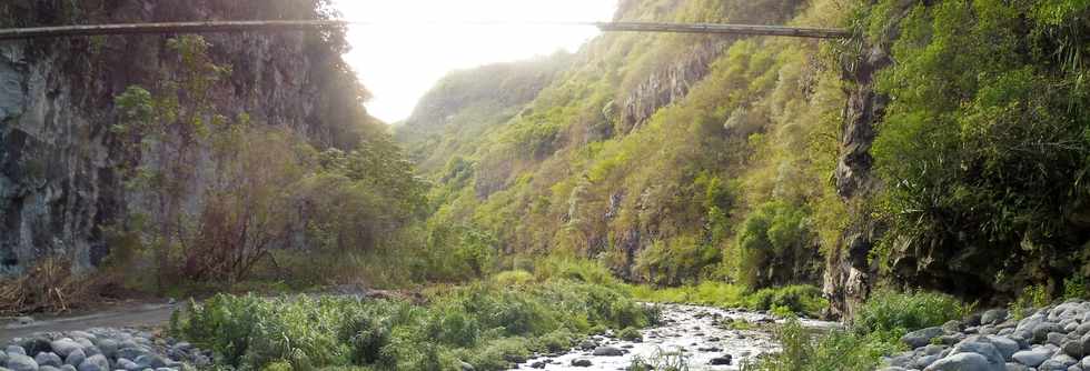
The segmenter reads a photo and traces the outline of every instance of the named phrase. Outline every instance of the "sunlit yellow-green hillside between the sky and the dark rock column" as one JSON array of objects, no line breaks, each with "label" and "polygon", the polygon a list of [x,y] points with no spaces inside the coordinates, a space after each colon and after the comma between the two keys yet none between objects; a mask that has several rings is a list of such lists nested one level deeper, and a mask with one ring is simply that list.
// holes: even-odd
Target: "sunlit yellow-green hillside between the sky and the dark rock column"
[{"label": "sunlit yellow-green hillside between the sky and the dark rock column", "polygon": [[[838,7],[627,1],[617,19],[830,26]],[[807,40],[602,36],[533,101],[507,110],[517,116],[474,121],[469,137],[446,133],[459,150],[428,169],[439,183],[433,223],[479,229],[507,253],[600,259],[638,281],[813,282],[822,264],[812,220],[823,211],[807,202],[835,200],[832,167],[815,160],[831,163],[836,144],[812,139],[838,137],[845,99],[822,52]],[[420,107],[482,89],[454,82]],[[790,237],[745,235],[770,228]]]}]

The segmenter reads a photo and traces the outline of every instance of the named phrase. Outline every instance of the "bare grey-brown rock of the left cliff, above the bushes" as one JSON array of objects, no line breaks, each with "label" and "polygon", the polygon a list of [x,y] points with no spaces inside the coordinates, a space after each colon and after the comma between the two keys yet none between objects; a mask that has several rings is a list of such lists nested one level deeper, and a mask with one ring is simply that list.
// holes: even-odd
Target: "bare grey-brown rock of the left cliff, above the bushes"
[{"label": "bare grey-brown rock of the left cliff, above the bushes", "polygon": [[[18,26],[198,19],[319,18],[320,1],[16,0],[0,22]],[[77,14],[60,18],[58,14]],[[77,268],[109,252],[103,228],[126,213],[125,161],[113,97],[178,71],[170,36],[0,43],[0,273],[46,255]],[[220,110],[287,126],[319,147],[350,147],[363,94],[340,59],[338,32],[212,34],[210,54],[234,73],[214,90]],[[355,94],[354,94],[354,93]],[[363,113],[366,116],[365,113]]]}]

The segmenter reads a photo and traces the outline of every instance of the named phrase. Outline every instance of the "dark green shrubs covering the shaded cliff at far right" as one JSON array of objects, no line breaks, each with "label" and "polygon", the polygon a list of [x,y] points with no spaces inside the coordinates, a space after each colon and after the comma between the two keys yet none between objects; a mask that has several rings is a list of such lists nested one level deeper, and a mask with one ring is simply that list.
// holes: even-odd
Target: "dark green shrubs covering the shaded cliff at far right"
[{"label": "dark green shrubs covering the shaded cliff at far right", "polygon": [[1059,297],[1090,272],[1090,4],[943,1],[902,19],[899,3],[862,9],[896,61],[878,83],[889,187],[875,203],[892,227],[879,257],[922,284],[957,275],[987,295],[1041,282]]}]

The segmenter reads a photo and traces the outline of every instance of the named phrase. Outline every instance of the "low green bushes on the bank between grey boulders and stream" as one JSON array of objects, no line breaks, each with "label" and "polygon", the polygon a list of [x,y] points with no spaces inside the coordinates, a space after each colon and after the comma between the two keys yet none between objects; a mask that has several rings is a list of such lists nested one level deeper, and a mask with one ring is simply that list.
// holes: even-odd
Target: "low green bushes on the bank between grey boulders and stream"
[{"label": "low green bushes on the bank between grey boulders and stream", "polygon": [[533,352],[579,337],[646,327],[654,310],[626,292],[565,279],[512,289],[477,283],[402,301],[220,294],[172,321],[172,331],[212,350],[226,367],[295,370],[505,370]]}]

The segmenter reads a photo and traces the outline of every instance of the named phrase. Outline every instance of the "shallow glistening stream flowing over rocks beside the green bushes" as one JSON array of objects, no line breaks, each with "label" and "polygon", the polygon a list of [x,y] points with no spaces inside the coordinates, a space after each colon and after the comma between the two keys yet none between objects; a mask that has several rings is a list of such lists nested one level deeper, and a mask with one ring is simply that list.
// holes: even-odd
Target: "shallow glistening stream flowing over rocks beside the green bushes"
[{"label": "shallow glistening stream flowing over rocks beside the green bushes", "polygon": [[[663,321],[656,328],[642,330],[642,342],[607,337],[595,337],[565,354],[549,354],[519,364],[518,370],[624,370],[640,357],[651,361],[661,359],[662,352],[683,354],[690,370],[740,370],[740,364],[755,357],[779,350],[779,344],[766,330],[732,330],[721,324],[726,319],[751,323],[782,322],[767,314],[723,310],[695,305],[663,305]],[[814,329],[840,327],[835,322],[802,320],[803,325]],[[597,351],[596,351],[597,350]],[[594,355],[617,353],[621,355]],[[730,364],[711,364],[713,359]],[[589,364],[586,365],[586,362]],[[584,365],[575,365],[582,363]],[[672,363],[673,364],[673,363]]]}]

